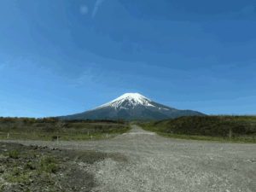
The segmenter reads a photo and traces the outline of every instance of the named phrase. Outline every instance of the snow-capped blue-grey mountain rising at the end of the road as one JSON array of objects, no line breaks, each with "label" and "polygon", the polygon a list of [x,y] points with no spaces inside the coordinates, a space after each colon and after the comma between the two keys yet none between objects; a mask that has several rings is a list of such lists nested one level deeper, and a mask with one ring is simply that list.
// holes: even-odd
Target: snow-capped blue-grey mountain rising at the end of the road
[{"label": "snow-capped blue-grey mountain rising at the end of the road", "polygon": [[127,121],[152,121],[161,119],[174,119],[181,116],[207,116],[207,114],[192,110],[179,110],[153,102],[138,93],[125,93],[111,102],[103,104],[83,113],[67,116],[57,116],[62,120],[73,119],[125,119]]}]

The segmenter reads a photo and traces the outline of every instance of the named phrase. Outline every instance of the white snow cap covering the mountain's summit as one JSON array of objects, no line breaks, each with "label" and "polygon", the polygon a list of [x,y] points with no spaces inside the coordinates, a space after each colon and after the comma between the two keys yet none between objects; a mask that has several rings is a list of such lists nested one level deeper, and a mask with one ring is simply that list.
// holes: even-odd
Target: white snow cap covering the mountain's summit
[{"label": "white snow cap covering the mountain's summit", "polygon": [[[119,96],[118,98],[114,99],[113,101],[103,104],[97,108],[93,108],[91,110],[105,108],[105,107],[113,107],[116,110],[116,108],[119,108],[119,107],[124,108],[121,106],[123,102],[128,102],[128,106],[133,106],[133,108],[136,107],[137,105],[154,107],[154,105],[151,105],[150,103],[148,103],[148,102],[152,102],[152,101],[145,96],[142,96],[138,93],[125,93],[124,95]],[[126,105],[127,105],[127,103],[125,104],[125,106]],[[126,108],[126,109],[128,109],[128,108]]]}]

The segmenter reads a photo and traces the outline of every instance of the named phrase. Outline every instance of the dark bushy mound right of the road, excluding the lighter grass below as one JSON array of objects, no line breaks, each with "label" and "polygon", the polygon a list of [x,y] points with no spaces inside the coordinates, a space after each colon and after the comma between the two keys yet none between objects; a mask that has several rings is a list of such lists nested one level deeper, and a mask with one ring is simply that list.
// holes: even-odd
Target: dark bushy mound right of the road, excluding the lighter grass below
[{"label": "dark bushy mound right of the road, excluding the lighter grass below", "polygon": [[253,118],[243,116],[182,116],[153,123],[153,126],[163,127],[166,133],[208,137],[253,135],[256,134],[255,125]]}]

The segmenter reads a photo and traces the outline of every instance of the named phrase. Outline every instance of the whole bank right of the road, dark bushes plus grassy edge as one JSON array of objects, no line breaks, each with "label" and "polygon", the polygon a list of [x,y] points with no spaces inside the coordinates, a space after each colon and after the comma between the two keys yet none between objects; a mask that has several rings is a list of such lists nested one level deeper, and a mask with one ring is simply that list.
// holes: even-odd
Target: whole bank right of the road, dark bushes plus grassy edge
[{"label": "whole bank right of the road, dark bushes plus grassy edge", "polygon": [[210,115],[183,116],[176,119],[139,122],[145,131],[153,131],[160,136],[217,141],[222,143],[256,143],[255,115]]}]

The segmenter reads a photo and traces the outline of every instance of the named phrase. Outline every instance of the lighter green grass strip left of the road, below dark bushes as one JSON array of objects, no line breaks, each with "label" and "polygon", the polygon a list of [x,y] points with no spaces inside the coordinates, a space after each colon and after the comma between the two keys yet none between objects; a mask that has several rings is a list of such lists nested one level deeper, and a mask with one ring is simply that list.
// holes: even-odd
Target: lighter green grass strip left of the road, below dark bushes
[{"label": "lighter green grass strip left of the road, below dark bushes", "polygon": [[[2,129],[0,139],[37,140],[37,141],[89,141],[102,140],[114,134],[123,134],[131,130],[130,125],[76,125],[58,131],[42,131],[42,129],[26,127],[23,129]],[[9,133],[9,138],[8,137]]]}]

